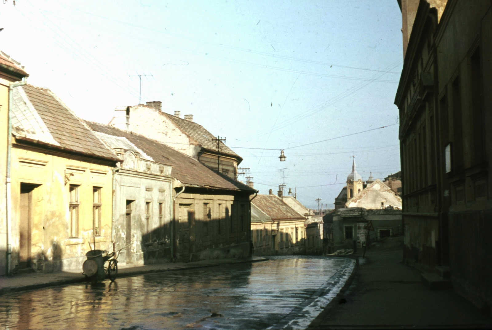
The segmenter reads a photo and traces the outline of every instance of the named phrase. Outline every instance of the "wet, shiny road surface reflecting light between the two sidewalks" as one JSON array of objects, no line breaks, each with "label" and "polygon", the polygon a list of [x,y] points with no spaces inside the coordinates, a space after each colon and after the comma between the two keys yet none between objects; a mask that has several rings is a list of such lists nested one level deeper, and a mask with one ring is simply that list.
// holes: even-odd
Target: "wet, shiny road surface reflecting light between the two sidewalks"
[{"label": "wet, shiny road surface reflecting light between the two sidewalks", "polygon": [[286,256],[0,297],[2,329],[304,329],[353,259]]}]

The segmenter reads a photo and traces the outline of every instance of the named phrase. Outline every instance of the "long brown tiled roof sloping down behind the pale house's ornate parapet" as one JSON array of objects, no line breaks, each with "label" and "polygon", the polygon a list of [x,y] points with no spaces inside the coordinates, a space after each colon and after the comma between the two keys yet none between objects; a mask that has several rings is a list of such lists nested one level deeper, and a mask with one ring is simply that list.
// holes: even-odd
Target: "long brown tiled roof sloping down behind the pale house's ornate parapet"
[{"label": "long brown tiled roof sloping down behind the pale house's ornate parapet", "polygon": [[118,128],[86,121],[93,131],[115,137],[123,137],[141,149],[155,162],[172,166],[171,176],[181,181],[184,186],[225,189],[254,193],[248,186],[210,169],[185,154],[158,141],[138,134],[122,131]]}]

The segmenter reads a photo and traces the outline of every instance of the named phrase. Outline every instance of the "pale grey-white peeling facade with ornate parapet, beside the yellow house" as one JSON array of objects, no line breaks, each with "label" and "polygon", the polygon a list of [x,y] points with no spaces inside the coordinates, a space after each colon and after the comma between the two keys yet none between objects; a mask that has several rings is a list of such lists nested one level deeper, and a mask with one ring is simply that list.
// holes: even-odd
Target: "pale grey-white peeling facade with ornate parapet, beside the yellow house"
[{"label": "pale grey-white peeling facade with ornate parapet, beside the yellow house", "polygon": [[[121,265],[169,262],[172,259],[171,166],[145,161],[127,151],[122,169],[115,174],[114,241],[121,251]],[[127,201],[131,201],[131,224],[127,226]],[[150,203],[147,223],[146,203]],[[162,203],[162,208],[159,208]],[[162,215],[159,214],[162,210]],[[129,231],[128,231],[129,229]]]}]

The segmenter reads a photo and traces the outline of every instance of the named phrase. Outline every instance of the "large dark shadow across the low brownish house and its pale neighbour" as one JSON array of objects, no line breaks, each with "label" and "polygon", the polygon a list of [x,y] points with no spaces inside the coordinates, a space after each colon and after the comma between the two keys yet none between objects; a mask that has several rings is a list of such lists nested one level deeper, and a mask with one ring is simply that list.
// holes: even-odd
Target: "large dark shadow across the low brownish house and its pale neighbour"
[{"label": "large dark shadow across the low brownish house and its pale neighbour", "polygon": [[173,221],[142,235],[144,264],[248,257],[250,216],[244,199],[235,198],[231,209],[220,204],[218,215],[208,203],[200,204],[199,212],[194,200],[176,203]]}]

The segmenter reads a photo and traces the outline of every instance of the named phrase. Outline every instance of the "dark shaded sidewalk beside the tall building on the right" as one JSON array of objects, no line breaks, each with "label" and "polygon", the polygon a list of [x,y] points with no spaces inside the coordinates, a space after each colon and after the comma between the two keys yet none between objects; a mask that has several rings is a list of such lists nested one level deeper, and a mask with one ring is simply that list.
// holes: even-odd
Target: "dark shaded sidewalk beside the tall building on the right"
[{"label": "dark shaded sidewalk beside the tall building on the right", "polygon": [[[452,290],[431,291],[402,263],[402,237],[359,257],[351,283],[307,329],[491,329],[492,319]],[[346,303],[340,303],[345,299]]]}]

